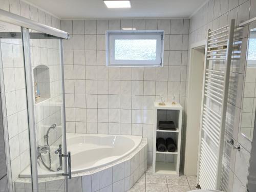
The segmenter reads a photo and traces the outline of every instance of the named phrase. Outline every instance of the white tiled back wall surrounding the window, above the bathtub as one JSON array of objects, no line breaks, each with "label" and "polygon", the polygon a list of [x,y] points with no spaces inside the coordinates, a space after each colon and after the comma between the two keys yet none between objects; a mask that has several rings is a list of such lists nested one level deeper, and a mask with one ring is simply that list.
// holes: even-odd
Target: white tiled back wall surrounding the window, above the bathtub
[{"label": "white tiled back wall surrounding the window, above the bathtub", "polygon": [[[164,67],[105,66],[105,31],[164,30]],[[153,104],[184,106],[188,19],[61,20],[70,33],[63,43],[66,122],[69,133],[141,135],[152,162]]]}]

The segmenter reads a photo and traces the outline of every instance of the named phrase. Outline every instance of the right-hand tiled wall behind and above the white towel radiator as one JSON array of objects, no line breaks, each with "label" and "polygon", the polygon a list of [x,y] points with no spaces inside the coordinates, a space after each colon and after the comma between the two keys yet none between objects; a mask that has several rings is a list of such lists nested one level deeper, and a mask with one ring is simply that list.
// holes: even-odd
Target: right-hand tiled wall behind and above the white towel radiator
[{"label": "right-hand tiled wall behind and above the white towel radiator", "polygon": [[[253,0],[210,0],[190,19],[189,45],[206,39],[208,28],[214,30],[227,25],[232,18],[236,19],[237,26],[255,16],[256,3]],[[234,41],[240,44],[241,55],[232,60],[229,83],[222,188],[233,192],[246,191],[251,152],[250,141],[240,133],[247,37],[248,26],[237,30],[234,35]],[[231,138],[235,146],[241,145],[240,152],[227,144],[226,140]]]}]

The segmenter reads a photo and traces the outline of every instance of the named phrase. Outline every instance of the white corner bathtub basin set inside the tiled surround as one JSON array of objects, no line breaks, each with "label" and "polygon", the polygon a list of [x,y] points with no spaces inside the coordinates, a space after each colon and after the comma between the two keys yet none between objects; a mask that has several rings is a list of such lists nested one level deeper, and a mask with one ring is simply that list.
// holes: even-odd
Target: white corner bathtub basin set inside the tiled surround
[{"label": "white corner bathtub basin set inside the tiled surround", "polygon": [[[67,133],[67,151],[71,152],[72,174],[99,168],[131,154],[141,143],[141,136]],[[38,177],[54,177],[38,160]],[[30,167],[19,174],[30,177]]]}]

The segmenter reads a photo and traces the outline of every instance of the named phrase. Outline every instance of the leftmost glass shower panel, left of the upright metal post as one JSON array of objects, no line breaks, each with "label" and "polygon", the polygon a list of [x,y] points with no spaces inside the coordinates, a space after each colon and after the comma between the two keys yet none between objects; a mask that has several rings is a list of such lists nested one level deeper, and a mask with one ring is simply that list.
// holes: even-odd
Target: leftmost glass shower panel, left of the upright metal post
[{"label": "leftmost glass shower panel, left of the upright metal post", "polygon": [[[25,66],[21,32],[20,26],[0,22],[0,86],[10,191],[22,187],[17,184],[20,173],[25,169],[30,169]],[[0,167],[0,169],[2,168]],[[28,172],[28,177],[31,177],[30,172]],[[31,188],[29,181],[27,188]]]}]

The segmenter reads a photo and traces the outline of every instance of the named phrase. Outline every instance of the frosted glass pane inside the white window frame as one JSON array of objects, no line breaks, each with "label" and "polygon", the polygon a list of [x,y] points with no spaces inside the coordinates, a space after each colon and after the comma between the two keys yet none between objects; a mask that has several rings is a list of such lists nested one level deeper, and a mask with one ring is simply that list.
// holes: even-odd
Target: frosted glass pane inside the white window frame
[{"label": "frosted glass pane inside the white window frame", "polygon": [[116,60],[156,60],[156,39],[115,39]]}]

